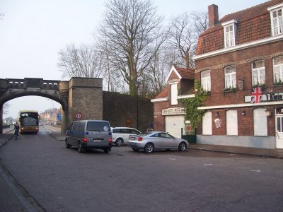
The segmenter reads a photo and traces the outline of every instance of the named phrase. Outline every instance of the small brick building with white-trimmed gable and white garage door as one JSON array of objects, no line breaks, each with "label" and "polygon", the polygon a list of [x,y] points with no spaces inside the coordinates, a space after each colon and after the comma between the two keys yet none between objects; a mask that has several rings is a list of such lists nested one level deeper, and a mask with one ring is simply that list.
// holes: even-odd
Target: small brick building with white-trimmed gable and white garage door
[{"label": "small brick building with white-trimmed gable and white garage door", "polygon": [[171,68],[166,78],[166,88],[154,102],[154,130],[166,131],[180,138],[185,131],[184,108],[178,100],[194,97],[195,69]]}]

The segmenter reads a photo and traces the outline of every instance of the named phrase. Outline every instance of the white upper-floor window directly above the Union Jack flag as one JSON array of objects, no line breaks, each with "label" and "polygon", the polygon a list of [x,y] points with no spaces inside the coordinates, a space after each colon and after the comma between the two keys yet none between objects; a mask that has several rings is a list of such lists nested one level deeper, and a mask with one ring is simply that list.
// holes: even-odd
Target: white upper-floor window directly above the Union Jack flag
[{"label": "white upper-floor window directly above the Union Jack flag", "polygon": [[265,84],[265,61],[259,60],[252,63],[253,86]]}]

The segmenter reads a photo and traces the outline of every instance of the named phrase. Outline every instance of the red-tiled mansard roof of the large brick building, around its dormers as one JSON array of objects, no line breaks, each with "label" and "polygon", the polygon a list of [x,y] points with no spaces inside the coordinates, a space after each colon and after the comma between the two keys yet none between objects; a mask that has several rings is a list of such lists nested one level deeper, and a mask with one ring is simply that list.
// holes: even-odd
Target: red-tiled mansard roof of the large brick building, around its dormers
[{"label": "red-tiled mansard roof of the large brick building, around its dormers", "polygon": [[270,37],[270,11],[267,8],[282,3],[282,0],[267,1],[243,11],[224,16],[219,20],[218,24],[207,29],[200,35],[195,54],[200,55],[224,49],[224,27],[221,23],[226,23],[229,20],[236,20],[238,22],[236,45]]}]

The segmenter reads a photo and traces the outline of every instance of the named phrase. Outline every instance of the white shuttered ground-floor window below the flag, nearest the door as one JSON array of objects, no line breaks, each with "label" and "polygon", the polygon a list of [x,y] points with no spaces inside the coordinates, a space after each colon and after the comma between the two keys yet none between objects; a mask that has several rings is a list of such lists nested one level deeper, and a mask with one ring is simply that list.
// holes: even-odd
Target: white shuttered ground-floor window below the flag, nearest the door
[{"label": "white shuttered ground-floor window below the flag, nearest the door", "polygon": [[253,110],[253,135],[267,136],[267,117],[264,108]]}]

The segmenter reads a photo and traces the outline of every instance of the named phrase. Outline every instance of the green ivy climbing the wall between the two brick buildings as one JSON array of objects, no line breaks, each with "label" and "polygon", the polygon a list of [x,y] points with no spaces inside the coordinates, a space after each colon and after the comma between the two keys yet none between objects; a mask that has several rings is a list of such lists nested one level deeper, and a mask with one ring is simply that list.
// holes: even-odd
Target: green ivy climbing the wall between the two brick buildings
[{"label": "green ivy climbing the wall between the two brick buildings", "polygon": [[180,99],[183,107],[185,108],[185,120],[189,120],[192,129],[196,129],[202,122],[205,110],[197,110],[201,107],[206,100],[208,93],[204,92],[200,83],[195,80],[195,98]]}]

